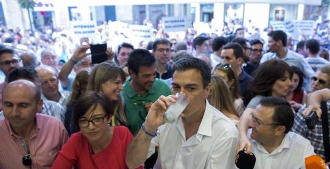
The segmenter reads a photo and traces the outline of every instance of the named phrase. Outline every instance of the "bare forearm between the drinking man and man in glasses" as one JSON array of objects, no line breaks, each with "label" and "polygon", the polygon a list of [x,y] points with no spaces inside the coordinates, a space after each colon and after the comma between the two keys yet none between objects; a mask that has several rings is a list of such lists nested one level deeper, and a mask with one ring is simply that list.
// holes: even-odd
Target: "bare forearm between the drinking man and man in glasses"
[{"label": "bare forearm between the drinking man and man in glasses", "polygon": [[239,129],[239,150],[243,150],[246,148],[247,151],[251,151],[251,142],[248,139],[248,127],[250,120],[252,118],[251,114],[254,111],[252,108],[246,108],[239,118],[239,123],[237,124],[237,128]]}]

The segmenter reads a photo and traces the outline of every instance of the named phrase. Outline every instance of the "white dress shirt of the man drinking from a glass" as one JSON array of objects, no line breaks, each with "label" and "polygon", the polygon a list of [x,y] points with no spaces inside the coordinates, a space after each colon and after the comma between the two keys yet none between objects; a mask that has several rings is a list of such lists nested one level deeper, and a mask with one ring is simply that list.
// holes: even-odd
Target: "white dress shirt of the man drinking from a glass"
[{"label": "white dress shirt of the man drinking from a glass", "polygon": [[148,157],[159,146],[154,168],[234,168],[239,133],[232,120],[206,101],[206,110],[195,135],[186,140],[180,117],[166,123],[151,140]]}]

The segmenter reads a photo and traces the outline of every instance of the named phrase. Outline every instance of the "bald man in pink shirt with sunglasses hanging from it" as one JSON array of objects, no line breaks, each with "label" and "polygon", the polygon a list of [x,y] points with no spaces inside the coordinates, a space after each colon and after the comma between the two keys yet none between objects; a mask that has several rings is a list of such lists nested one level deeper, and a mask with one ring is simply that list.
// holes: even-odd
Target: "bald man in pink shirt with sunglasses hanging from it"
[{"label": "bald man in pink shirt with sunglasses hanging from it", "polygon": [[37,114],[43,105],[41,89],[17,80],[3,90],[0,120],[0,168],[50,168],[67,141],[62,122]]}]

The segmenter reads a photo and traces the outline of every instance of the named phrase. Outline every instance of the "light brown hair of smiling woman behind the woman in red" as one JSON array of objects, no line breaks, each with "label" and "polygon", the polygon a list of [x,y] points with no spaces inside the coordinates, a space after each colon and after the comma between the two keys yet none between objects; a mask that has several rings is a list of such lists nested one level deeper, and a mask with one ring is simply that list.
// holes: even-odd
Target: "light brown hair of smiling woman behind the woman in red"
[{"label": "light brown hair of smiling woman behind the woman in red", "polygon": [[[102,83],[114,81],[118,77],[120,77],[120,79],[122,79],[122,83],[124,83],[125,75],[124,71],[120,67],[113,66],[108,62],[98,64],[98,66],[94,67],[93,71],[91,71],[87,91],[103,92],[101,88]],[[126,125],[127,120],[121,95],[119,95],[118,101],[113,102],[113,105],[114,125]]]}]

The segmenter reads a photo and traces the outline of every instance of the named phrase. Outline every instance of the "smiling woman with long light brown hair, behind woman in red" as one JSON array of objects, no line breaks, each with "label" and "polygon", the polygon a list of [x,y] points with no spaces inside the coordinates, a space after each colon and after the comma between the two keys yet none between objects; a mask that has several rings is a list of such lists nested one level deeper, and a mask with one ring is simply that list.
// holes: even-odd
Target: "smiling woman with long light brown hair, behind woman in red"
[{"label": "smiling woman with long light brown hair, behind woman in red", "polygon": [[[123,101],[120,92],[125,81],[124,71],[117,66],[103,62],[95,66],[89,75],[87,91],[102,92],[107,95],[113,103],[113,120],[111,125],[126,125]],[[79,128],[72,121],[72,133],[79,131]]]}]

